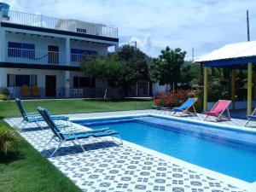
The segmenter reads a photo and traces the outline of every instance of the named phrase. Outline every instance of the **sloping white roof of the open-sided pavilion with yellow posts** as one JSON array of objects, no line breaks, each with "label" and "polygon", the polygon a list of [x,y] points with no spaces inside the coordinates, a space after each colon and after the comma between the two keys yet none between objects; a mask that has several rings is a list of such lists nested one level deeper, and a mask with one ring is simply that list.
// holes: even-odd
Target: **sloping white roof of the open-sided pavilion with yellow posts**
[{"label": "sloping white roof of the open-sided pavilion with yellow posts", "polygon": [[226,44],[220,49],[213,50],[207,55],[196,59],[195,62],[230,61],[256,57],[256,41]]}]

